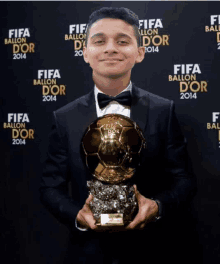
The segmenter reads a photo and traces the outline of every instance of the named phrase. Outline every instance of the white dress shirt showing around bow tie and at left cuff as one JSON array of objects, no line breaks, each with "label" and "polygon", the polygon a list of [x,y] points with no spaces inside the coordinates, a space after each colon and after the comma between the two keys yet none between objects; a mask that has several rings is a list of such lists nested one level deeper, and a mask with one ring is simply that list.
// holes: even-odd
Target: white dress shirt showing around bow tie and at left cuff
[{"label": "white dress shirt showing around bow tie and at left cuff", "polygon": [[[121,91],[121,93],[125,92],[125,91],[131,92],[131,89],[132,89],[132,83],[130,81],[129,85],[123,91]],[[116,101],[111,101],[106,107],[100,109],[99,104],[98,104],[98,93],[103,93],[103,92],[100,91],[95,85],[94,93],[95,93],[96,113],[97,113],[98,117],[101,117],[101,116],[107,115],[107,114],[120,114],[120,115],[130,117],[131,108],[129,106],[121,105]],[[75,219],[75,226],[80,231],[87,231],[88,230],[87,228],[78,227],[76,219]]]}]

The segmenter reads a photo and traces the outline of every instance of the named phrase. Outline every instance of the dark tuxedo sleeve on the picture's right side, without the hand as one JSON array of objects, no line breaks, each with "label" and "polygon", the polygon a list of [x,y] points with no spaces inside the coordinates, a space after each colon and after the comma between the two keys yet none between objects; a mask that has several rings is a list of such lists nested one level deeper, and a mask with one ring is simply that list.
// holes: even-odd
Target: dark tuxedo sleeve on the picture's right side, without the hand
[{"label": "dark tuxedo sleeve on the picture's right side, without the hand", "polygon": [[186,139],[181,132],[175,106],[171,101],[167,137],[165,144],[165,174],[170,180],[170,188],[157,194],[154,199],[161,202],[161,214],[173,216],[177,209],[191,201],[196,193],[196,178],[192,171],[186,148]]}]

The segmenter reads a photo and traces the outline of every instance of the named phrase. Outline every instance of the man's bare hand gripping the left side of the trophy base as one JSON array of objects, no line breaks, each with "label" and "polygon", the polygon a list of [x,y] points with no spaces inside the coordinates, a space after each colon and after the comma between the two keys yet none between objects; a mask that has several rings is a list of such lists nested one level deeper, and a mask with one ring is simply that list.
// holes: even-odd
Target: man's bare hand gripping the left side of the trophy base
[{"label": "man's bare hand gripping the left side of the trophy base", "polygon": [[89,203],[92,201],[93,196],[90,194],[87,198],[83,208],[78,212],[76,216],[77,223],[81,228],[90,228],[97,229],[95,224],[95,218],[93,217],[93,213],[90,209]]}]

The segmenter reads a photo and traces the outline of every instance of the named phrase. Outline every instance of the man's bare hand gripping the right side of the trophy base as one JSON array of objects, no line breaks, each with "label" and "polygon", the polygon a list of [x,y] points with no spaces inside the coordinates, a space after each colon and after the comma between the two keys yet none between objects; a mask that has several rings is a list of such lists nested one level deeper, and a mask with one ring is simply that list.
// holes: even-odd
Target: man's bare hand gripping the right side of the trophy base
[{"label": "man's bare hand gripping the right side of the trophy base", "polygon": [[138,213],[126,229],[143,229],[147,223],[153,221],[158,216],[159,208],[155,201],[141,195],[136,185],[134,185],[134,188],[138,202]]}]

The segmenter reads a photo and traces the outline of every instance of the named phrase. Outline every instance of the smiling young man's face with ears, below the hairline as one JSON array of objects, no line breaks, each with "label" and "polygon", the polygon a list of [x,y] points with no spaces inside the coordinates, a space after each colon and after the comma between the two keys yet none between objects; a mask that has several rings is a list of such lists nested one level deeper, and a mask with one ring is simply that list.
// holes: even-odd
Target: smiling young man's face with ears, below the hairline
[{"label": "smiling young man's face with ears, below the hairline", "polygon": [[91,26],[83,55],[94,76],[117,78],[130,73],[135,63],[144,59],[145,50],[138,47],[130,24],[104,18]]}]

